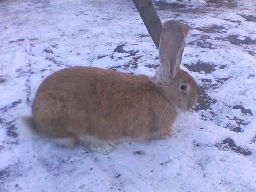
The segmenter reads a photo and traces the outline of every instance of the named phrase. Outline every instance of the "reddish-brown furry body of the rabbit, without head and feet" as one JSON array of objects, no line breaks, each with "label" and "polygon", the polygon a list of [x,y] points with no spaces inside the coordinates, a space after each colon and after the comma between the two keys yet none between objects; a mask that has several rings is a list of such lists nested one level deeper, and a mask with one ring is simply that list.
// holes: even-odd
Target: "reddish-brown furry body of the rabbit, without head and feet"
[{"label": "reddish-brown furry body of the rabbit, without head and feet", "polygon": [[176,112],[146,75],[71,67],[42,82],[33,103],[39,132],[49,136],[153,138]]}]

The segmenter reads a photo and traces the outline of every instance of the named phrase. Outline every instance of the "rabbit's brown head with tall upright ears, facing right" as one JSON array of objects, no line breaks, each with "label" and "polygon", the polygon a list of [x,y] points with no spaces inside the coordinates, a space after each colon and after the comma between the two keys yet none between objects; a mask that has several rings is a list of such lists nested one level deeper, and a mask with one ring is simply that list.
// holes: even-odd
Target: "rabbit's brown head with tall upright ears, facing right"
[{"label": "rabbit's brown head with tall upright ears, facing right", "polygon": [[152,79],[177,113],[192,109],[198,99],[195,80],[179,68],[188,31],[188,25],[176,20],[163,25],[159,46],[162,64]]}]

